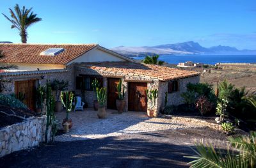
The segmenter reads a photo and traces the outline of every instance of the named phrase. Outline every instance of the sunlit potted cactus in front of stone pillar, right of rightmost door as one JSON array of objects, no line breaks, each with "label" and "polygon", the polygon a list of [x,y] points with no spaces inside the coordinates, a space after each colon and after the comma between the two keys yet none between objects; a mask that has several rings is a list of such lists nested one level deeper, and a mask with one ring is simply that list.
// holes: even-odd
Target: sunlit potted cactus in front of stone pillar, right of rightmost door
[{"label": "sunlit potted cactus in front of stone pillar, right of rightmost door", "polygon": [[154,110],[154,107],[156,106],[156,98],[158,96],[158,91],[157,89],[152,89],[152,90],[146,90],[147,93],[147,98],[148,100],[150,100],[149,104],[149,109],[147,111],[148,117],[152,118],[152,117],[156,117],[157,116],[157,112]]}]

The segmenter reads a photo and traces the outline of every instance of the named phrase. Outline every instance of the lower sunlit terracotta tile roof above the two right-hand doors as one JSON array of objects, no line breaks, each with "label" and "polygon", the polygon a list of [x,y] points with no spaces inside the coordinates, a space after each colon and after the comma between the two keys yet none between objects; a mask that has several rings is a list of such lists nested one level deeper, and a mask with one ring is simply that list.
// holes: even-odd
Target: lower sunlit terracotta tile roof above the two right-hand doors
[{"label": "lower sunlit terracotta tile roof above the two right-hand doors", "polygon": [[159,79],[162,81],[193,77],[200,74],[198,72],[179,70],[177,68],[170,68],[167,66],[147,65],[141,63],[86,63],[77,66],[105,72],[121,73],[123,75]]}]

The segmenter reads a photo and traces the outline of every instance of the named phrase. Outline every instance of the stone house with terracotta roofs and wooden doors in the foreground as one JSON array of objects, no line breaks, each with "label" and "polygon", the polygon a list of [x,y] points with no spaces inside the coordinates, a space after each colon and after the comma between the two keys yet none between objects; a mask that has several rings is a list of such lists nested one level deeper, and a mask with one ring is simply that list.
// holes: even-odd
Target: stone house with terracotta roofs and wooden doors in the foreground
[{"label": "stone house with terracotta roofs and wooden doors in the foreground", "polygon": [[15,72],[2,72],[3,93],[24,93],[24,103],[35,108],[35,88],[47,80],[68,80],[69,90],[81,95],[81,83],[85,84],[85,100],[93,107],[92,80],[97,78],[106,87],[107,108],[116,109],[116,85],[121,78],[125,86],[126,111],[147,111],[145,89],[158,89],[156,110],[164,105],[165,93],[168,103],[182,103],[180,94],[186,91],[186,84],[199,82],[199,73],[158,65],[135,63],[100,45],[33,45],[0,44],[4,57],[0,63],[17,65]]}]

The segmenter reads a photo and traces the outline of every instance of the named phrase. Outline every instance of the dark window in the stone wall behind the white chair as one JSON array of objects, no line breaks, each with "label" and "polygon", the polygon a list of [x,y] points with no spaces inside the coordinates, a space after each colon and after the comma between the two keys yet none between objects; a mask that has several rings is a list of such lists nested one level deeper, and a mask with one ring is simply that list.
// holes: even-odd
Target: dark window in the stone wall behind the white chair
[{"label": "dark window in the stone wall behind the white chair", "polygon": [[86,75],[86,76],[79,76],[76,77],[76,89],[82,89],[86,91],[92,91],[92,80],[97,79],[100,83],[100,88],[103,87],[103,78],[94,75]]}]

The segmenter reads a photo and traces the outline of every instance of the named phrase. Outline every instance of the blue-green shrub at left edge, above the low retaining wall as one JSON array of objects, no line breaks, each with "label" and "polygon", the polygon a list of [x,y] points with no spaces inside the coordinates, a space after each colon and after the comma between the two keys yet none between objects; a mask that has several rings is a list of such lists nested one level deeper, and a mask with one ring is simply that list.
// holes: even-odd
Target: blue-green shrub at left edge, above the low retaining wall
[{"label": "blue-green shrub at left edge, above the low retaining wall", "polygon": [[3,95],[2,93],[0,93],[0,104],[7,105],[17,109],[28,109],[28,107],[24,103],[20,102],[20,100],[15,98],[15,96]]}]

